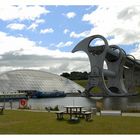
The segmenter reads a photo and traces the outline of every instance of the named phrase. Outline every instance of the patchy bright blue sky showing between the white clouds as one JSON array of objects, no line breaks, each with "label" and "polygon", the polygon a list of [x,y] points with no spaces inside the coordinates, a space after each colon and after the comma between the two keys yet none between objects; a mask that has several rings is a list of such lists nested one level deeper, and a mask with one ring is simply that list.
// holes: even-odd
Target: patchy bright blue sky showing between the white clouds
[{"label": "patchy bright blue sky showing between the white clouds", "polygon": [[[18,19],[10,21],[0,21],[0,30],[8,33],[12,36],[21,36],[29,38],[36,43],[39,43],[42,47],[49,47],[50,49],[56,49],[56,45],[60,42],[71,41],[73,45],[70,47],[59,48],[62,51],[71,51],[72,48],[80,41],[80,38],[70,38],[69,33],[74,31],[76,33],[90,30],[92,26],[86,22],[81,22],[82,16],[87,11],[93,11],[96,6],[43,6],[49,11],[48,14],[40,15],[39,19],[43,19],[44,22],[40,23],[35,29],[27,29],[34,21]],[[75,16],[68,18],[68,13],[74,13]],[[9,24],[24,24],[27,26],[23,30],[14,30],[7,28]],[[16,26],[16,25],[15,25]],[[41,34],[43,29],[52,29],[51,33]],[[68,33],[64,33],[64,30],[68,30]]]}]

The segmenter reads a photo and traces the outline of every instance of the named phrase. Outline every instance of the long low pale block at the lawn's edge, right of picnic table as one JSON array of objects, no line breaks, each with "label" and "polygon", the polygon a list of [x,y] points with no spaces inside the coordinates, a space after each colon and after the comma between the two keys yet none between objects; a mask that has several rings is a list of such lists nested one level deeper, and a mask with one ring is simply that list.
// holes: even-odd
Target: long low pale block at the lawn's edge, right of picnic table
[{"label": "long low pale block at the lawn's edge, right of picnic table", "polygon": [[121,110],[101,110],[100,115],[101,116],[121,116],[122,111]]}]

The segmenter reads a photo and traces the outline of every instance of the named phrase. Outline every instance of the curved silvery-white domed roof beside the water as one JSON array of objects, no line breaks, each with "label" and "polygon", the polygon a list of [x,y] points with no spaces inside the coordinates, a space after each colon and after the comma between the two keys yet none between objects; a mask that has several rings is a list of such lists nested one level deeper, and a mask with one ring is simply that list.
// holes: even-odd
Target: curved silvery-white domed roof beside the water
[{"label": "curved silvery-white domed roof beside the water", "polygon": [[78,90],[84,91],[84,88],[62,76],[40,70],[14,70],[0,75],[0,92],[19,90],[58,90],[75,93]]}]

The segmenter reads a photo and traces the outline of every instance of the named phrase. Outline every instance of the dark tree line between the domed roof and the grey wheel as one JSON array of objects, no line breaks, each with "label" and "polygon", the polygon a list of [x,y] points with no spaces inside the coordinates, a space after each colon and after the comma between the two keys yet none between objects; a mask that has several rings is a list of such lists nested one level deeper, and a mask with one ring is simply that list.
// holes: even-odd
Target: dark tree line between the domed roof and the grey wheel
[{"label": "dark tree line between the domed roof and the grey wheel", "polygon": [[87,80],[88,79],[89,73],[85,72],[78,72],[78,71],[73,71],[71,73],[62,73],[60,76],[63,76],[65,78],[68,78],[70,80]]}]

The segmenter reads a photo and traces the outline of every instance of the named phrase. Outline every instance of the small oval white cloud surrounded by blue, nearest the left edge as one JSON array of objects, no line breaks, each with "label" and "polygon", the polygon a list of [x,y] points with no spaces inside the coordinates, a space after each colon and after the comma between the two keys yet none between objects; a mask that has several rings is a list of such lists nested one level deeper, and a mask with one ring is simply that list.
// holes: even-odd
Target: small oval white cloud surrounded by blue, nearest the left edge
[{"label": "small oval white cloud surrounded by blue, nearest the left edge", "polygon": [[11,23],[11,24],[8,24],[6,27],[12,30],[23,30],[26,26],[25,24]]}]

